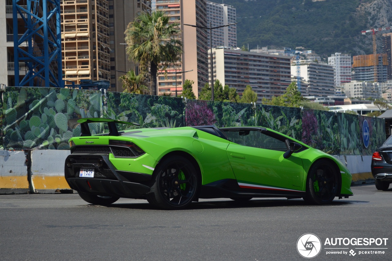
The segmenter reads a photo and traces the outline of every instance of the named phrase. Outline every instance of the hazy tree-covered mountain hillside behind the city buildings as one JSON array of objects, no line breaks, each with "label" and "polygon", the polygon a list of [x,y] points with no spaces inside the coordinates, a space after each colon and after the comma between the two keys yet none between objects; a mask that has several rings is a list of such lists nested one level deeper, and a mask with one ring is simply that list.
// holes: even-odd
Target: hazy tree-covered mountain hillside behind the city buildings
[{"label": "hazy tree-covered mountain hillside behind the city buildings", "polygon": [[[392,0],[224,0],[223,3],[236,8],[238,46],[249,44],[249,49],[303,46],[324,58],[335,52],[370,54],[372,36],[362,35],[361,31],[392,25]],[[377,51],[382,51],[381,33],[377,35]]]}]

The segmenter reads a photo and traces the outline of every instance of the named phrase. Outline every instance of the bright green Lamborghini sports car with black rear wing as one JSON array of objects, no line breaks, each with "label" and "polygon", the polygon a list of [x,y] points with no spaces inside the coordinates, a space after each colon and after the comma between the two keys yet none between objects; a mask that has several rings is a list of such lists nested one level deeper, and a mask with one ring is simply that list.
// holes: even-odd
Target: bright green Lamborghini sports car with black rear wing
[{"label": "bright green Lamborghini sports car with black rear wing", "polygon": [[[91,135],[89,124],[107,124]],[[69,140],[65,179],[91,204],[120,197],[180,209],[198,199],[303,198],[328,204],[352,195],[351,174],[336,158],[263,127],[194,126],[118,131],[105,118],[68,121],[81,136]],[[137,124],[136,124],[137,125]]]}]

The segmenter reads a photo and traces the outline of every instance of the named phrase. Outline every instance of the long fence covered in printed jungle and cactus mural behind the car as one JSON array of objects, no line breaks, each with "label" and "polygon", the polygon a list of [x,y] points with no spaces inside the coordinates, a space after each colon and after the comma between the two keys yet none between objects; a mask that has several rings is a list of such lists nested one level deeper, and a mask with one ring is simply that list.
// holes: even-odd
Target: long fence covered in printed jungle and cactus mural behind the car
[{"label": "long fence covered in printed jungle and cactus mural behind the car", "polygon": [[[65,88],[7,87],[1,94],[0,149],[5,150],[67,150],[68,139],[80,135],[80,127],[71,130],[67,120],[81,117],[140,124],[123,129],[264,126],[333,155],[372,155],[385,141],[383,119],[330,111]],[[99,123],[92,128],[93,134],[105,131]],[[367,147],[363,137],[369,137]]]}]

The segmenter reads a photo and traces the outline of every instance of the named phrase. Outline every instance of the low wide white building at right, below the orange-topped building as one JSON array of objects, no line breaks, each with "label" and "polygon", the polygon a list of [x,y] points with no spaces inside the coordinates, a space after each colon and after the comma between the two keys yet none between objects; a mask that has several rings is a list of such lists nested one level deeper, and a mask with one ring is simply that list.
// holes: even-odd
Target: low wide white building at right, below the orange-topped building
[{"label": "low wide white building at right, below the orange-topped building", "polygon": [[344,85],[347,97],[357,99],[380,99],[382,97],[381,84],[378,82],[353,80],[352,82],[347,82]]}]

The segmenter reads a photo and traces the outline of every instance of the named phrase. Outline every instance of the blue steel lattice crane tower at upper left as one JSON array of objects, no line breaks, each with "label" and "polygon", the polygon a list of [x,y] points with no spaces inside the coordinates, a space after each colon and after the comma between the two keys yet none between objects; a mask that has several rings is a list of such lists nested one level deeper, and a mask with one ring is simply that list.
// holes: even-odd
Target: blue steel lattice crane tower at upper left
[{"label": "blue steel lattice crane tower at upper left", "polygon": [[[64,87],[60,0],[13,0],[12,4],[15,86]],[[24,23],[21,37],[18,17]],[[25,62],[28,68],[22,79],[19,62]]]}]

